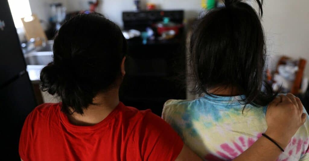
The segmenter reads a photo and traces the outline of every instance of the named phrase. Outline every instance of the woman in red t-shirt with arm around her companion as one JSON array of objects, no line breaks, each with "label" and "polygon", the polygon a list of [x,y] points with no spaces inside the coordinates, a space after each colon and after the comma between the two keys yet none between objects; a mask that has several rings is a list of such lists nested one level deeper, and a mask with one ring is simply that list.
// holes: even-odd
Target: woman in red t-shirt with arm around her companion
[{"label": "woman in red t-shirt with arm around her companion", "polygon": [[[42,104],[28,115],[19,142],[22,160],[200,160],[160,117],[119,101],[126,50],[119,27],[100,14],[80,14],[62,25],[53,62],[40,75],[42,90],[61,103]],[[304,122],[301,103],[282,100],[267,111],[268,134],[279,143]],[[235,160],[279,154],[262,137]]]}]

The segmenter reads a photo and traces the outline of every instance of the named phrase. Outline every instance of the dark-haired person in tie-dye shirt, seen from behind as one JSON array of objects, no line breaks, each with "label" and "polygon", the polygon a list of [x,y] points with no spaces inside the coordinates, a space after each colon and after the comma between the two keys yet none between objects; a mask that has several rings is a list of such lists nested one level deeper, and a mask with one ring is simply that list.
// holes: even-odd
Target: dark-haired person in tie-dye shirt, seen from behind
[{"label": "dark-haired person in tie-dye shirt, seen from behind", "polygon": [[[206,160],[231,160],[250,147],[266,131],[266,107],[277,97],[263,78],[263,0],[256,0],[260,14],[245,0],[223,2],[198,20],[189,42],[192,91],[205,96],[167,101],[163,109],[163,119]],[[298,130],[279,160],[309,160],[308,125]]]}]

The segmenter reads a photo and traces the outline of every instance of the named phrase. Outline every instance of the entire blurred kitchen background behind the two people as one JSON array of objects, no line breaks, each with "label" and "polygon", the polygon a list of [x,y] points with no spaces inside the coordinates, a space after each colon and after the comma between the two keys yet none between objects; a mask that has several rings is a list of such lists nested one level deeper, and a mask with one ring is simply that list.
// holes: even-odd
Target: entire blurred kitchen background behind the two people
[{"label": "entire blurred kitchen background behind the two people", "polygon": [[[265,81],[274,90],[297,95],[307,107],[309,1],[264,2]],[[1,135],[8,138],[2,140],[10,145],[7,154],[18,156],[19,133],[29,112],[41,103],[58,102],[40,91],[39,77],[52,61],[53,37],[70,17],[98,12],[121,27],[129,45],[121,101],[160,116],[166,100],[198,97],[189,92],[191,26],[220,6],[222,2],[214,0],[1,0],[0,102],[3,122],[11,123],[6,125],[11,132]]]}]

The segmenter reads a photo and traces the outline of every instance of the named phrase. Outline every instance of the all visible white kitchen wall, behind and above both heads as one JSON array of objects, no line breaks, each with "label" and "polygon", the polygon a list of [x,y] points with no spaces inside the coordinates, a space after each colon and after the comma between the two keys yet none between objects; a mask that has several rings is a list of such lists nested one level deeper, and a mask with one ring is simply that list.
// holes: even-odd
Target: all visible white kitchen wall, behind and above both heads
[{"label": "all visible white kitchen wall, behind and above both heads", "polygon": [[[89,0],[29,0],[32,13],[48,18],[48,4],[62,2],[68,11],[87,10]],[[122,26],[121,13],[133,10],[133,0],[101,0],[97,11]],[[201,11],[201,0],[142,0],[153,2],[161,9],[183,9],[185,18],[194,18]],[[273,68],[279,55],[305,58],[309,61],[309,6],[308,0],[265,0],[263,26],[269,54],[269,67]],[[43,6],[43,7],[40,7]],[[309,76],[309,63],[305,73]]]}]

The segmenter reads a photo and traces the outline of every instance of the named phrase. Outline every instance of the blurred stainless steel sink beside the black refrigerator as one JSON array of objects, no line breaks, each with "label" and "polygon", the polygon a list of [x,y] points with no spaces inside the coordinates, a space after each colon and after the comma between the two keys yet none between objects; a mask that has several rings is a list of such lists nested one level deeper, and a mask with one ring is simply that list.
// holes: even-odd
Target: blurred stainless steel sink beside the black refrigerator
[{"label": "blurred stainless steel sink beside the black refrigerator", "polygon": [[53,61],[53,41],[48,41],[46,46],[37,47],[35,50],[24,54],[30,80],[40,80],[40,72],[44,66]]}]

